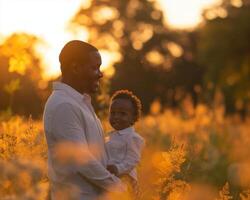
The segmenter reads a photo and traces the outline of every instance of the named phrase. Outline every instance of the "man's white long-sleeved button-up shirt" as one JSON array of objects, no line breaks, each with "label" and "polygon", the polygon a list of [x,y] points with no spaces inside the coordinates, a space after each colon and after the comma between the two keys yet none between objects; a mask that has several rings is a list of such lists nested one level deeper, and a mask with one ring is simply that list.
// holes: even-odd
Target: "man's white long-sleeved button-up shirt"
[{"label": "man's white long-sleeved button-up shirt", "polygon": [[124,189],[106,170],[103,130],[90,96],[55,82],[43,119],[53,200],[64,189],[70,200],[96,200],[105,191]]}]

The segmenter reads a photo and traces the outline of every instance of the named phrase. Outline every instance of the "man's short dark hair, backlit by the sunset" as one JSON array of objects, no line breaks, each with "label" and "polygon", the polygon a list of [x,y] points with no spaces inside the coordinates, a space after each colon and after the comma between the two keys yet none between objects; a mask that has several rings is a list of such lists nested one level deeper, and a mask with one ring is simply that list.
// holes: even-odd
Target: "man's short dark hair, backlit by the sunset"
[{"label": "man's short dark hair, backlit by the sunset", "polygon": [[86,63],[89,59],[89,53],[98,51],[97,48],[80,40],[72,40],[62,48],[59,61],[61,70],[65,69],[72,62]]}]

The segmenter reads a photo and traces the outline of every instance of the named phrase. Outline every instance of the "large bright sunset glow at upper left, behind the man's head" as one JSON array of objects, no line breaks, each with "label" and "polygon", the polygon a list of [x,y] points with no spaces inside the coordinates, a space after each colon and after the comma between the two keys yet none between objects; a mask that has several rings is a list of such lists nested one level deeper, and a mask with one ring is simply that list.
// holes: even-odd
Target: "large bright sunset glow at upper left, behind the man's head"
[{"label": "large bright sunset glow at upper left, behind the man's head", "polygon": [[87,39],[87,33],[69,31],[68,22],[82,0],[0,0],[0,36],[26,32],[41,38],[37,50],[43,55],[45,75],[58,75],[58,54],[66,41]]}]

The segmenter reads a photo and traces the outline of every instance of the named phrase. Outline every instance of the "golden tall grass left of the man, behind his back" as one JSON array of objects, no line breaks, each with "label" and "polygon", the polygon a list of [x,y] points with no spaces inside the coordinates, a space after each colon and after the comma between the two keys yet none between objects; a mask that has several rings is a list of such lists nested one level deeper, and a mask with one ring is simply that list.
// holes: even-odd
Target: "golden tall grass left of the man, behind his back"
[{"label": "golden tall grass left of the man, behind his back", "polygon": [[45,199],[46,145],[41,121],[13,116],[0,121],[0,199]]}]

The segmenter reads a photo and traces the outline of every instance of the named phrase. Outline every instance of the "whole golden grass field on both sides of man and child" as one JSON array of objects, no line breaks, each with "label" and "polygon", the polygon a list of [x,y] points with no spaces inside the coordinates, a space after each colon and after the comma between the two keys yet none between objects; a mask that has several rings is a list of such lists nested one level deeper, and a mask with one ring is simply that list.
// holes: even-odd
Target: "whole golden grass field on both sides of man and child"
[{"label": "whole golden grass field on both sides of man and child", "polygon": [[[250,199],[250,118],[225,117],[223,104],[151,107],[136,130],[146,139],[138,166],[143,200]],[[103,119],[104,130],[107,121]],[[0,199],[45,200],[42,120],[2,115]],[[128,199],[126,195],[119,199]]]}]

